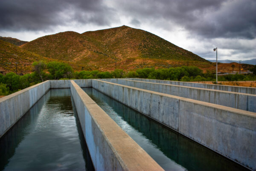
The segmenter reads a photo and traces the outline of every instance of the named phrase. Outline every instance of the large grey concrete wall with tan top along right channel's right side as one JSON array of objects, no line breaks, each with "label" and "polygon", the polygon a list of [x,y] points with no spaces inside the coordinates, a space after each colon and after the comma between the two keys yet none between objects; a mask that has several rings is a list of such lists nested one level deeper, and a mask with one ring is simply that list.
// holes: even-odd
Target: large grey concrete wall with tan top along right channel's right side
[{"label": "large grey concrete wall with tan top along right channel's right side", "polygon": [[256,169],[256,113],[92,80],[93,88],[231,160]]}]

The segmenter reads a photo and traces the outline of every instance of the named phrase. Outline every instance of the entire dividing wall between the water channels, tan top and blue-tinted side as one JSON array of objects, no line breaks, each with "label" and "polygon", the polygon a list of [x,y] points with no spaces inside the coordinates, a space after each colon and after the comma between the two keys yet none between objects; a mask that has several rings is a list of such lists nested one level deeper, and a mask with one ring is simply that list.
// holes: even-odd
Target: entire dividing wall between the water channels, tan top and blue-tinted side
[{"label": "entire dividing wall between the water channels, tan top and blue-tinted side", "polygon": [[163,171],[74,81],[71,93],[96,170]]}]

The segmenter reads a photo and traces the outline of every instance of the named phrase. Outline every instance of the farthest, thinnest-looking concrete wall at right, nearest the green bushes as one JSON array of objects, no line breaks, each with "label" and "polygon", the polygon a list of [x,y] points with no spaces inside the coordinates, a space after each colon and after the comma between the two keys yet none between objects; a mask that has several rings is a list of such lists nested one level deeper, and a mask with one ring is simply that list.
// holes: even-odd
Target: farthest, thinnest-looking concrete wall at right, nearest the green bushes
[{"label": "farthest, thinnest-looking concrete wall at right, nearest the green bushes", "polygon": [[166,81],[166,80],[154,80],[154,79],[143,79],[143,78],[125,78],[125,79],[130,79],[134,81],[154,82],[154,83],[160,83],[160,84],[172,84],[172,85],[180,85],[180,86],[187,86],[187,87],[231,91],[231,92],[237,92],[237,93],[256,94],[256,88],[253,88],[253,87],[203,84],[203,83],[192,83],[192,82],[183,82],[183,81]]}]

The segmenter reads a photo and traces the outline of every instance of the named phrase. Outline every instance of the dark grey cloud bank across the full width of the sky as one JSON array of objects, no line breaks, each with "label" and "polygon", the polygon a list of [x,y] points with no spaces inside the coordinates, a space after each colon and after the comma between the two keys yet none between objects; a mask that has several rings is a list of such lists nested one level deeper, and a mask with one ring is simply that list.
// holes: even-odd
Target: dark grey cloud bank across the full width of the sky
[{"label": "dark grey cloud bank across the full width of the sky", "polygon": [[[42,31],[70,23],[108,25],[123,14],[131,24],[173,25],[207,38],[256,37],[255,0],[1,0],[0,30]],[[118,14],[118,15],[116,15]],[[162,23],[162,24],[160,24]],[[122,25],[123,23],[120,23]]]}]

